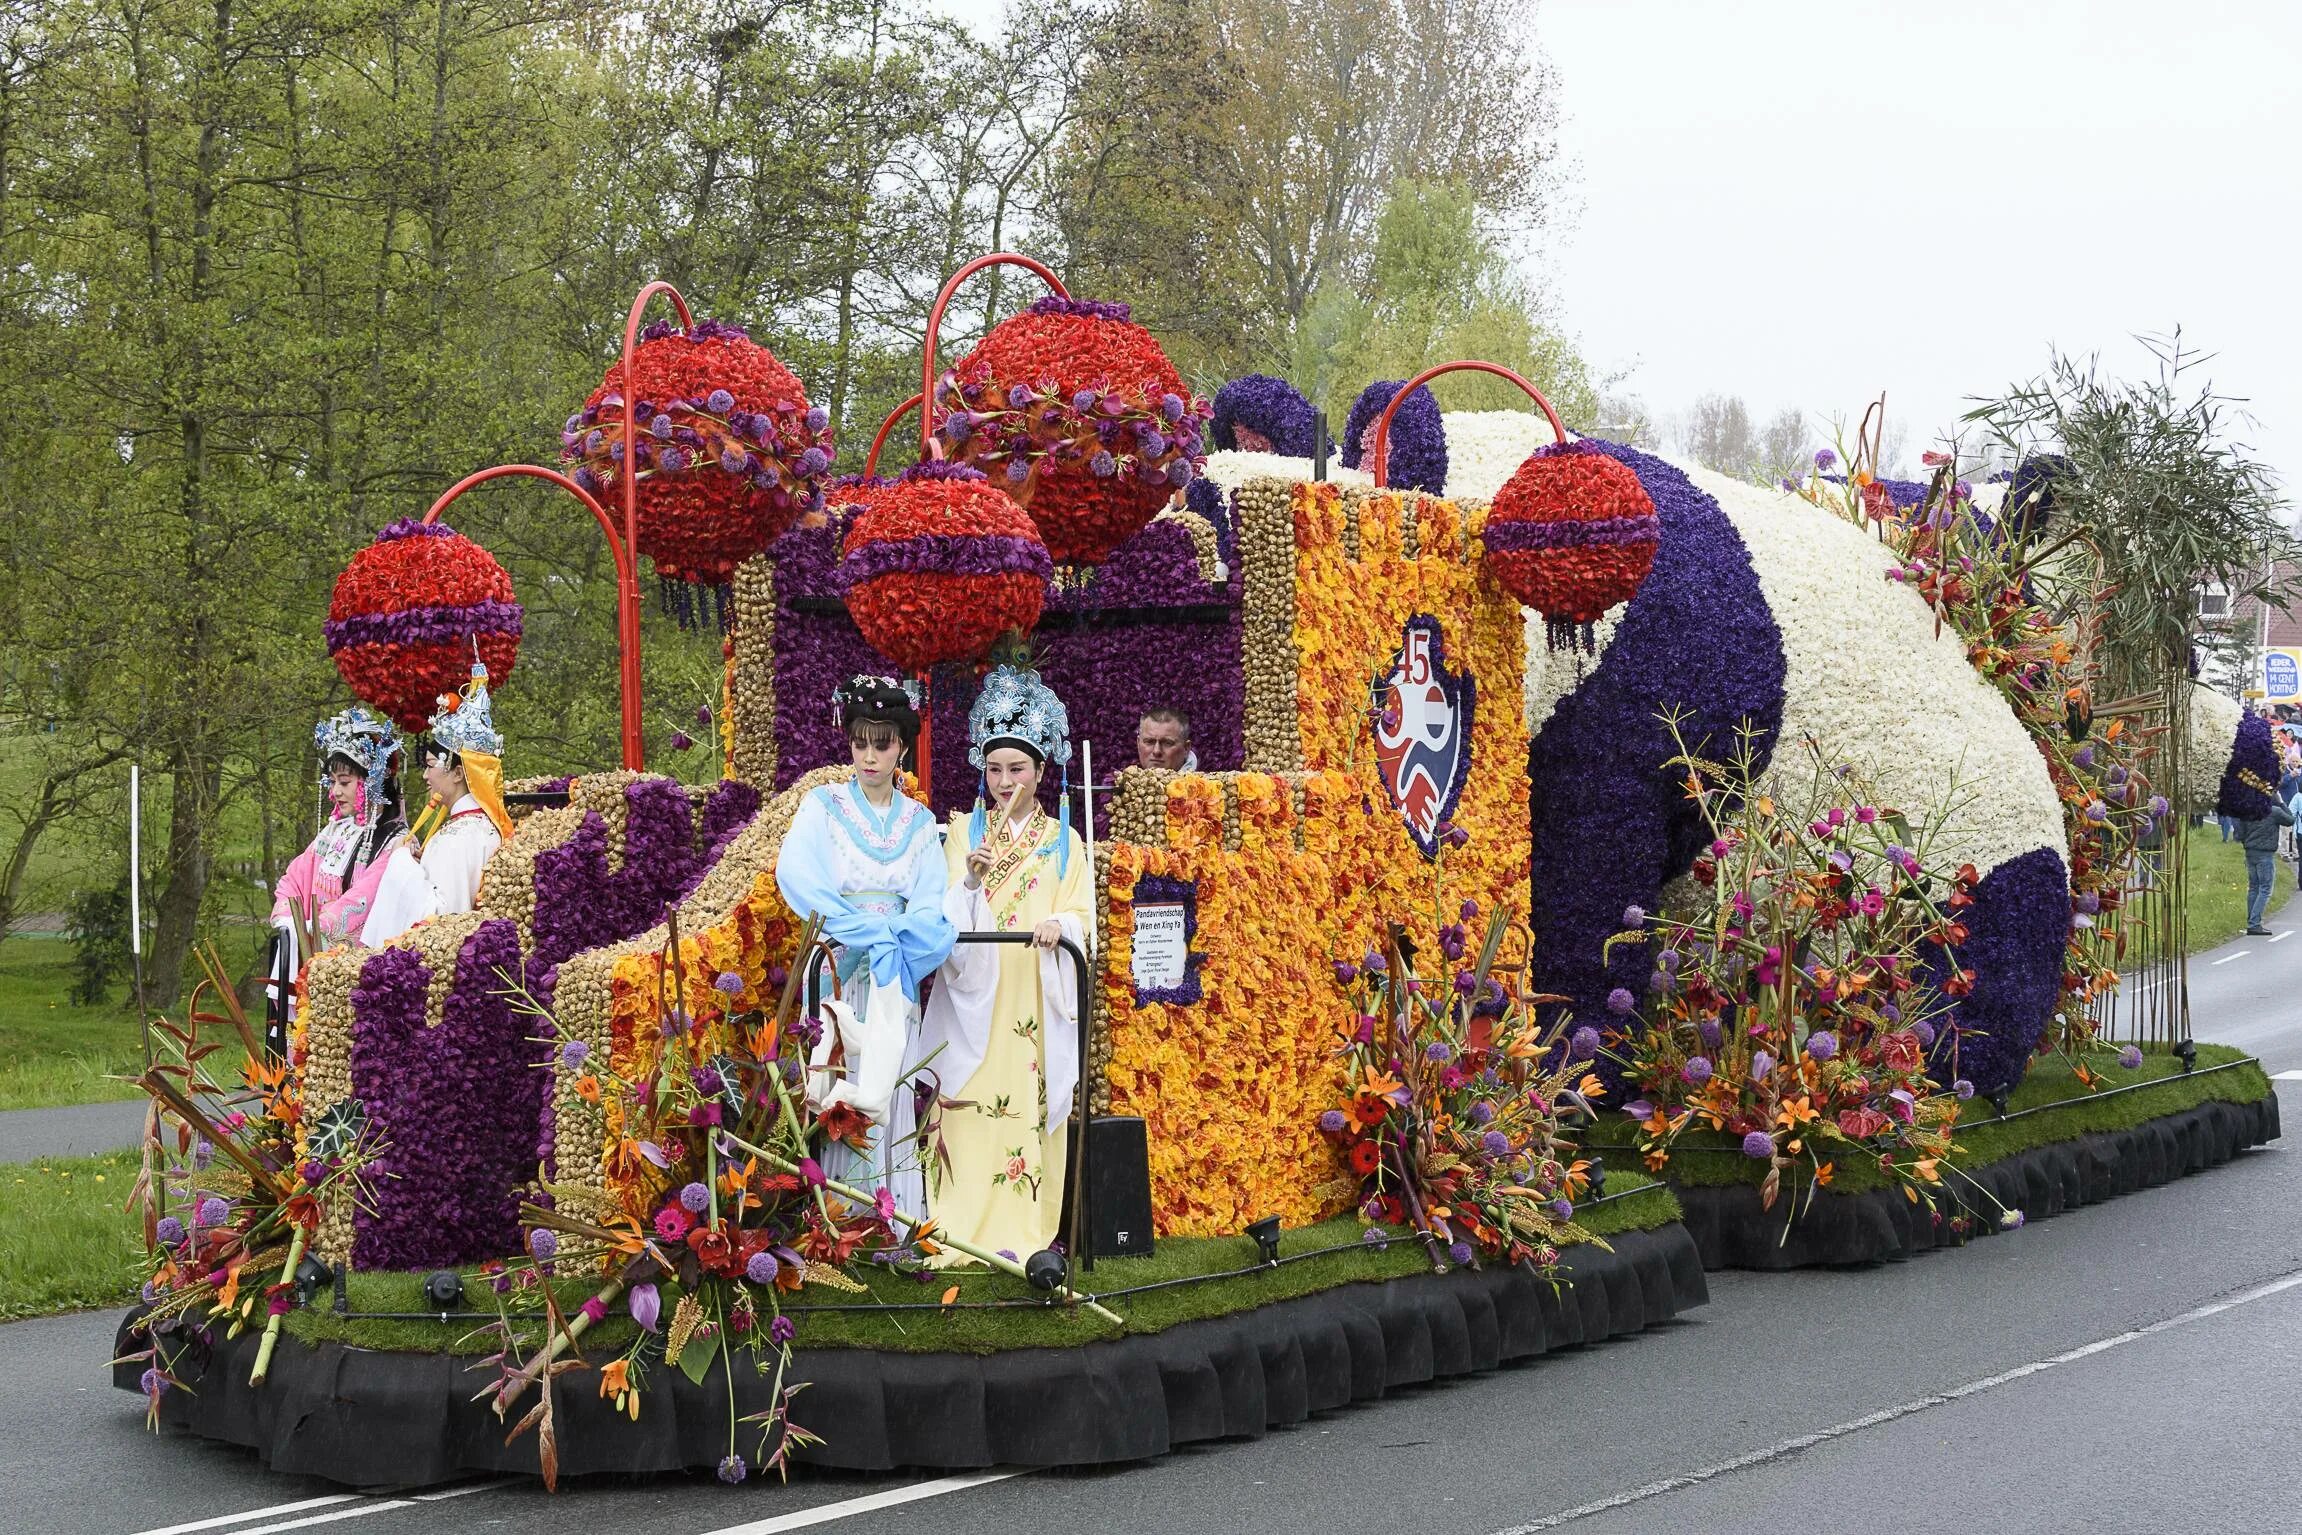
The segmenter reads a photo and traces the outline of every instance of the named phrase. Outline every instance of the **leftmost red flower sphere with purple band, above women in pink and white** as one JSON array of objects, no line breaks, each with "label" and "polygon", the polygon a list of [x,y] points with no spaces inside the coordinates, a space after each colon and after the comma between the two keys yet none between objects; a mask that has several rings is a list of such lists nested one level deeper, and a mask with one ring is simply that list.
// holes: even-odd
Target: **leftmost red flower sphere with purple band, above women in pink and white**
[{"label": "leftmost red flower sphere with purple band, above women in pink and white", "polygon": [[502,686],[520,656],[520,603],[495,555],[444,522],[394,522],[352,555],[327,605],[327,654],[364,702],[424,730],[442,693],[472,677],[472,649]]}]

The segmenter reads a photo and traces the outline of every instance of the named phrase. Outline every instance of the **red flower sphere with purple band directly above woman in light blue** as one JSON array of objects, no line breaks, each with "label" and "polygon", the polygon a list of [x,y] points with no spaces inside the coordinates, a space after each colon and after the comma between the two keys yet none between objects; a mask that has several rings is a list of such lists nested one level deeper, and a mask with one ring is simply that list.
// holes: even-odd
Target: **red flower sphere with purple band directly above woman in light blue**
[{"label": "red flower sphere with purple band directly above woman in light blue", "polygon": [[833,573],[870,647],[905,672],[983,660],[1038,624],[1054,564],[1031,518],[981,469],[923,463],[875,490]]}]

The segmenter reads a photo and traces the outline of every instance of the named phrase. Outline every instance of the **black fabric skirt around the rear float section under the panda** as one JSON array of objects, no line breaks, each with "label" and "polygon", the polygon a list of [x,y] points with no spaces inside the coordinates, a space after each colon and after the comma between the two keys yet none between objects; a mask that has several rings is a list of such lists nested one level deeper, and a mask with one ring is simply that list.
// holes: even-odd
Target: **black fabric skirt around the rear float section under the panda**
[{"label": "black fabric skirt around the rear float section under the panda", "polygon": [[[2254,1102],[2215,1100],[2143,1121],[2132,1130],[2033,1146],[1952,1174],[1936,1197],[1941,1211],[1911,1204],[1899,1187],[1862,1194],[1825,1190],[1812,1206],[1800,1201],[1789,1234],[1784,1234],[1789,1204],[1775,1201],[1773,1211],[1761,1208],[1754,1183],[1724,1187],[1674,1183],[1671,1192],[1685,1211],[1685,1227],[1703,1254],[1703,1268],[1876,1263],[1908,1259],[1931,1247],[1957,1247],[1971,1236],[1991,1234],[1998,1229],[2000,1206],[2021,1211],[2023,1220],[2044,1220],[2221,1167],[2240,1151],[2277,1137],[2277,1093]],[[1968,1178],[1989,1190],[1989,1197],[1975,1192]],[[1964,1231],[1952,1224],[1957,1217],[1966,1220]]]}]

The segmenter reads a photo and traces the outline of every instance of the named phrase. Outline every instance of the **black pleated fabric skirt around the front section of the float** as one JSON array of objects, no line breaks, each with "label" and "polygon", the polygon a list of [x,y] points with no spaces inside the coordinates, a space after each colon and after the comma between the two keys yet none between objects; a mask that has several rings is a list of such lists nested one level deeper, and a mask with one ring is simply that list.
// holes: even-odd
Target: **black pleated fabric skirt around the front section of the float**
[{"label": "black pleated fabric skirt around the front section of the float", "polygon": [[[824,1443],[796,1459],[847,1471],[1103,1466],[1176,1445],[1255,1438],[1312,1413],[1402,1385],[1476,1374],[1552,1349],[1637,1332],[1703,1305],[1701,1259],[1685,1229],[1630,1231],[1614,1252],[1575,1247],[1572,1284],[1526,1270],[1457,1270],[1344,1284],[1296,1300],[1186,1321],[1165,1332],[1080,1349],[1006,1353],[875,1353],[799,1349],[808,1381],[792,1418]],[[138,1312],[120,1353],[147,1346]],[[177,1332],[170,1349],[191,1344]],[[256,1332],[189,1346],[161,1397],[173,1429],[256,1450],[272,1471],[348,1487],[417,1487],[477,1473],[536,1471],[536,1441],[504,1443],[506,1425],[472,1395],[488,1376],[470,1358],[382,1353],[283,1337],[272,1379],[249,1388]],[[138,1390],[143,1362],[113,1367]],[[771,1376],[737,1369],[734,1415],[769,1406]],[[523,1397],[516,1413],[532,1406]],[[559,1473],[665,1473],[727,1454],[727,1376],[702,1385],[651,1369],[640,1420],[599,1397],[592,1372],[562,1376],[552,1397]],[[734,1448],[755,1459],[757,1427]]]}]

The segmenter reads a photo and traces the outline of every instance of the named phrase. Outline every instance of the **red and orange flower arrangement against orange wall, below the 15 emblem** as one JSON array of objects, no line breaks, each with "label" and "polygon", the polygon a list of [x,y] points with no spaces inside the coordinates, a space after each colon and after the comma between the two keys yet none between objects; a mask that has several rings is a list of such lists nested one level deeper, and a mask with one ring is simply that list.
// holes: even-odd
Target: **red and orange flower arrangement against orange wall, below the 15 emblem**
[{"label": "red and orange flower arrangement against orange wall, below the 15 emblem", "polygon": [[1478,902],[1459,918],[1439,927],[1450,980],[1418,976],[1397,927],[1384,948],[1335,962],[1351,1015],[1335,1024],[1342,1102],[1319,1114],[1319,1130],[1356,1181],[1358,1213],[1411,1227],[1439,1273],[1503,1261],[1549,1277],[1558,1247],[1604,1247],[1575,1224],[1591,1169],[1565,1135],[1568,1116],[1591,1116],[1598,1079],[1577,1086],[1561,1026],[1538,1022],[1538,1006],[1558,999],[1496,967],[1508,918],[1487,916],[1469,962]]}]

